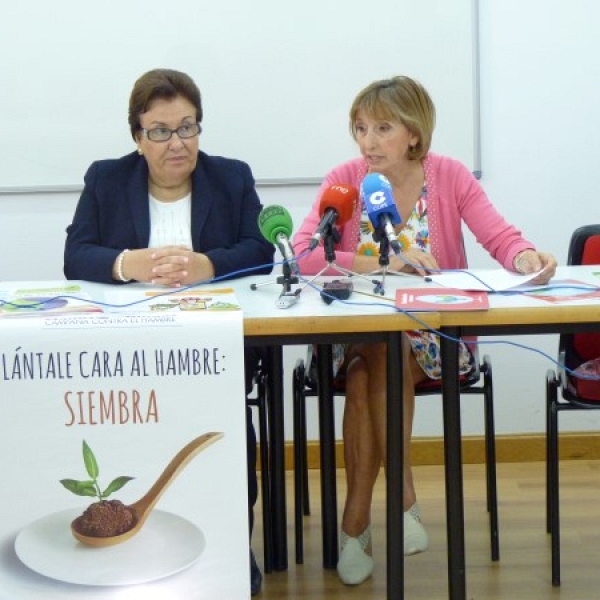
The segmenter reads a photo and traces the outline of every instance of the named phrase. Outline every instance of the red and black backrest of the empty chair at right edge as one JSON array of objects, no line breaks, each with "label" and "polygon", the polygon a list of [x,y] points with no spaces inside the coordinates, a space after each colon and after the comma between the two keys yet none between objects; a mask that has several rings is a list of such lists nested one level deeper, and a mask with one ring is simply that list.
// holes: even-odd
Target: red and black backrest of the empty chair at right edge
[{"label": "red and black backrest of the empty chair at right edge", "polygon": [[[585,225],[571,236],[567,255],[569,265],[600,265],[600,224]],[[563,334],[561,356],[569,369],[600,357],[600,333]]]}]

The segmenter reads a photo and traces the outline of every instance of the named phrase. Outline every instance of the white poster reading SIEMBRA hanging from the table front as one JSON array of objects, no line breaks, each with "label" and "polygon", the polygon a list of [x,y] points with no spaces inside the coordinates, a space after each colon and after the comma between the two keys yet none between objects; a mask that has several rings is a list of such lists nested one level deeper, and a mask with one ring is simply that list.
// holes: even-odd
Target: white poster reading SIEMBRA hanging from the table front
[{"label": "white poster reading SIEMBRA hanging from the table front", "polygon": [[0,311],[0,598],[248,598],[239,307],[50,296]]}]

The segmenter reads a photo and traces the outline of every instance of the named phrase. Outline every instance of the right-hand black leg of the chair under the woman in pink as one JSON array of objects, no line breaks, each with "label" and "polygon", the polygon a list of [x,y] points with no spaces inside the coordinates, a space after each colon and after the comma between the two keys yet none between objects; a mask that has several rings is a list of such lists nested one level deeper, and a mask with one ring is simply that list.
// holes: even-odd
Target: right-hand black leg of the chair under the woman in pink
[{"label": "right-hand black leg of the chair under the woman in pink", "polygon": [[487,506],[490,513],[490,553],[492,561],[500,560],[500,534],[498,528],[498,484],[496,475],[496,427],[494,424],[494,386],[491,362],[484,357],[483,373],[485,415],[485,462]]}]

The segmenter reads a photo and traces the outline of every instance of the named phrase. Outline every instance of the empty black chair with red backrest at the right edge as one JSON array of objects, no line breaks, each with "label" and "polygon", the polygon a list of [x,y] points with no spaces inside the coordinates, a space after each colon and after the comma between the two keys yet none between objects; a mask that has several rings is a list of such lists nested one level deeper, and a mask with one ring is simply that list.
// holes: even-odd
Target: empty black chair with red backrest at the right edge
[{"label": "empty black chair with red backrest at the right edge", "polygon": [[[600,225],[573,232],[569,265],[600,265]],[[558,363],[574,370],[600,357],[600,333],[561,334]],[[591,384],[591,386],[590,386]],[[559,394],[560,390],[560,394]],[[560,585],[560,515],[558,414],[562,411],[600,409],[600,381],[577,379],[559,368],[546,373],[546,528],[551,534],[552,585]]]}]

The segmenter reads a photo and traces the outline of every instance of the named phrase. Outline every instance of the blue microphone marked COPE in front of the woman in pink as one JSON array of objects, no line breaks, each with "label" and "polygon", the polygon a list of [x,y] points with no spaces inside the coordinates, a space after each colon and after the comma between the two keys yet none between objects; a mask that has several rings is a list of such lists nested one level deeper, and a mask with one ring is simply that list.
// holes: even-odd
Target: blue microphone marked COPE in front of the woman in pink
[{"label": "blue microphone marked COPE in front of the woman in pink", "polygon": [[388,178],[381,173],[369,173],[361,183],[360,195],[375,232],[378,234],[382,232],[387,237],[392,250],[399,254],[400,243],[394,225],[401,223],[402,219],[396,208]]}]

